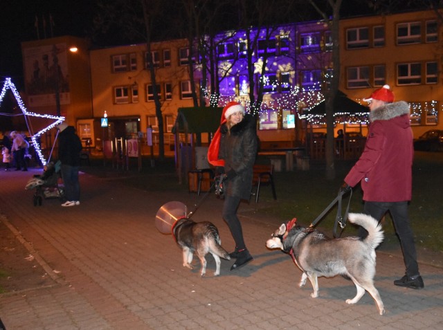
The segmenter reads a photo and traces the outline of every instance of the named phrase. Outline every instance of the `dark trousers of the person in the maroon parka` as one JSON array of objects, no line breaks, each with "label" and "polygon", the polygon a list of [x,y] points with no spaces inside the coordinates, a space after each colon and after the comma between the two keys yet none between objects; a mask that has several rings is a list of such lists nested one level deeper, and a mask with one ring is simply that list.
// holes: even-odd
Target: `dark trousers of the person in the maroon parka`
[{"label": "dark trousers of the person in the maroon parka", "polygon": [[[363,212],[371,217],[381,221],[386,212],[390,212],[394,223],[395,232],[400,240],[401,250],[403,251],[404,264],[406,266],[406,275],[419,275],[417,264],[417,250],[415,250],[414,234],[409,224],[408,202],[369,202],[365,201]],[[360,237],[366,237],[368,232],[361,228]]]}]

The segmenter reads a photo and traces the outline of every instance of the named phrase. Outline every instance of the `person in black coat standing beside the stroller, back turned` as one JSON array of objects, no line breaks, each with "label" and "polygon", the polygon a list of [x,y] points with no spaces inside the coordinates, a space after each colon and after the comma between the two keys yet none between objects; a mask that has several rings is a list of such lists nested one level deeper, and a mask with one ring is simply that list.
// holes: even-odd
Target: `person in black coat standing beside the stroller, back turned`
[{"label": "person in black coat standing beside the stroller, back turned", "polygon": [[66,201],[62,206],[80,205],[80,181],[78,168],[80,167],[80,152],[82,141],[75,128],[66,124],[56,125],[58,134],[58,158],[62,163],[61,172],[64,183],[64,196]]}]

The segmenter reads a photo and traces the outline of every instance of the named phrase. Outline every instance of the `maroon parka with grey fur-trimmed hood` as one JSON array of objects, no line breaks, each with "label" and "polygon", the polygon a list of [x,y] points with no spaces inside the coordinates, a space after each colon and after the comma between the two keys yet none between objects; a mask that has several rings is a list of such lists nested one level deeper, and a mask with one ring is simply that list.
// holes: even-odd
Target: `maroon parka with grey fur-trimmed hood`
[{"label": "maroon parka with grey fur-trimmed hood", "polygon": [[364,201],[410,201],[414,149],[409,106],[388,103],[369,116],[365,149],[345,183],[354,187],[361,181]]}]

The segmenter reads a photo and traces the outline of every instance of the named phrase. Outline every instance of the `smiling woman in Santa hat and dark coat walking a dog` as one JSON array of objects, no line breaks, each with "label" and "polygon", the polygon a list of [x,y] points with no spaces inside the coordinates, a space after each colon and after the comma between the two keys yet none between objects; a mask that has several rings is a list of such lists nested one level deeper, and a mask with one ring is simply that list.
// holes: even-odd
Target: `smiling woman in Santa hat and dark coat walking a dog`
[{"label": "smiling woman in Santa hat and dark coat walking a dog", "polygon": [[[237,209],[242,199],[251,197],[253,165],[257,154],[257,131],[253,116],[246,114],[242,104],[229,102],[223,109],[219,127],[219,139],[213,139],[209,154],[218,154],[224,169],[223,219],[235,241],[235,250],[230,257],[237,259],[231,271],[251,262],[253,257],[244,242],[242,224]],[[218,148],[218,153],[217,153]],[[210,163],[213,163],[208,157]],[[213,163],[214,164],[214,163]]]}]

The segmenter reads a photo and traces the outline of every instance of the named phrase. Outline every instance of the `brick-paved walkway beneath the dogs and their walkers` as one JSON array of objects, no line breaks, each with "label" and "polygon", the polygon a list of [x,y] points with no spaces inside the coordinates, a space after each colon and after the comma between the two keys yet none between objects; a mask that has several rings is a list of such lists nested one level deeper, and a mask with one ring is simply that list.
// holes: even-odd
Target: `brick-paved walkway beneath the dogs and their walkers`
[{"label": "brick-paved walkway beneath the dogs and their walkers", "polygon": [[[181,251],[171,235],[156,230],[157,210],[168,201],[192,209],[196,194],[183,190],[149,192],[117,180],[82,174],[81,205],[62,208],[57,199],[33,205],[24,186],[30,172],[0,172],[2,221],[17,230],[53,285],[0,295],[0,318],[15,329],[437,329],[443,322],[443,270],[420,263],[425,288],[399,288],[401,258],[377,253],[374,279],[385,304],[379,315],[372,297],[345,300],[356,293],[342,277],[320,278],[320,297],[311,284],[298,288],[300,271],[288,255],[270,251],[265,241],[280,224],[275,219],[242,217],[253,262],[230,272],[222,260],[221,275],[208,255],[207,275],[199,262],[181,266]],[[272,201],[278,203],[278,201]],[[242,210],[260,207],[242,204]],[[260,213],[260,210],[257,210]],[[221,201],[213,194],[193,218],[219,228],[222,245],[234,246],[221,220]]]}]

